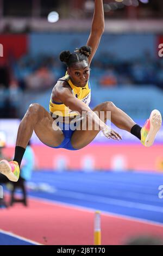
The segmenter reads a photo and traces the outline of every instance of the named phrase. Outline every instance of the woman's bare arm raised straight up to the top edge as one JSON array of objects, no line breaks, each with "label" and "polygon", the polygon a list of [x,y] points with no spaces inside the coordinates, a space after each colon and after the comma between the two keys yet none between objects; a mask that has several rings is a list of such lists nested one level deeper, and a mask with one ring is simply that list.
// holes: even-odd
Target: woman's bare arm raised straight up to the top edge
[{"label": "woman's bare arm raised straight up to the top edge", "polygon": [[104,27],[105,22],[103,0],[95,0],[95,11],[93,14],[91,33],[89,39],[87,40],[87,46],[92,48],[92,52],[89,57],[89,64],[91,63],[91,60],[97,51],[101,36],[104,32]]}]

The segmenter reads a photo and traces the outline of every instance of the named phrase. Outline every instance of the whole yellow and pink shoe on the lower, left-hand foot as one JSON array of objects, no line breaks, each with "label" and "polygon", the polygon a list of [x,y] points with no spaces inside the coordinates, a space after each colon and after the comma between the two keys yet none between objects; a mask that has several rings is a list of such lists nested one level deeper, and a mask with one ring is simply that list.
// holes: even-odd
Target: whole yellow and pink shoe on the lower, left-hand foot
[{"label": "whole yellow and pink shoe on the lower, left-hand foot", "polygon": [[20,175],[20,168],[16,161],[2,160],[0,162],[0,173],[7,176],[7,178],[11,181],[18,181]]}]

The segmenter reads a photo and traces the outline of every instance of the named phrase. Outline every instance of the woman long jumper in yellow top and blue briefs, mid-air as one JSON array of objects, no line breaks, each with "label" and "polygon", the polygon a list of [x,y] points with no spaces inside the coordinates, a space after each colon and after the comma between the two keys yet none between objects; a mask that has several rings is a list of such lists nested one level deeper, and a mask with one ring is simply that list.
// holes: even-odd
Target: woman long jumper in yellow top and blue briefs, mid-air
[{"label": "woman long jumper in yellow top and blue briefs, mid-air", "polygon": [[[91,33],[86,46],[73,53],[60,53],[60,60],[67,65],[67,72],[52,90],[49,113],[39,104],[31,104],[18,128],[14,160],[0,162],[0,172],[9,180],[17,181],[19,178],[23,154],[33,131],[40,141],[49,147],[78,150],[86,147],[99,131],[107,138],[121,139],[117,132],[105,124],[109,118],[108,113],[111,112],[111,122],[118,128],[132,133],[146,147],[153,144],[162,123],[158,110],[153,110],[146,124],[140,127],[110,101],[103,102],[94,109],[89,107],[90,64],[103,32],[103,1],[95,0]],[[103,118],[100,113],[103,113]]]}]

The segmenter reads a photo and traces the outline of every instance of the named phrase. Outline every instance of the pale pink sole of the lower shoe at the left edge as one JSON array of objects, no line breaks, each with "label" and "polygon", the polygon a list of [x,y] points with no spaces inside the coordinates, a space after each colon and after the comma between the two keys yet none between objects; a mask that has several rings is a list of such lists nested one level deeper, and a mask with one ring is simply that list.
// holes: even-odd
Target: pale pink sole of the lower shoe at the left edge
[{"label": "pale pink sole of the lower shoe at the left edge", "polygon": [[0,162],[0,173],[2,173],[3,175],[7,176],[7,178],[10,181],[18,181],[17,176],[14,175],[14,173],[12,173],[12,169],[10,164],[8,163],[7,160],[2,160]]}]

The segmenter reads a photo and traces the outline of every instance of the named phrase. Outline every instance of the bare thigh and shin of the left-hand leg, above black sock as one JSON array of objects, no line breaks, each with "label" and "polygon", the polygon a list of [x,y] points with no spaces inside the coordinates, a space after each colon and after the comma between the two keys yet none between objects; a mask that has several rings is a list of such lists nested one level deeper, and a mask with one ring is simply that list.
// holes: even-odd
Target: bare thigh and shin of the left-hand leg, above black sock
[{"label": "bare thigh and shin of the left-hand leg, above black sock", "polygon": [[57,147],[64,139],[62,131],[55,131],[54,120],[45,108],[39,104],[31,104],[18,127],[16,146],[26,148],[29,139],[35,131],[41,142]]}]

